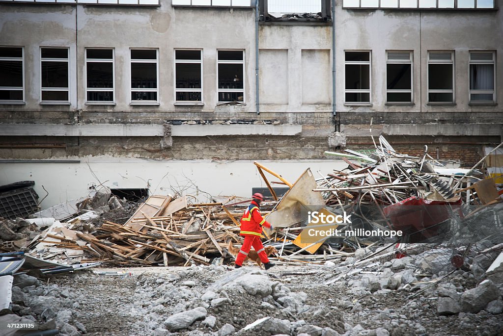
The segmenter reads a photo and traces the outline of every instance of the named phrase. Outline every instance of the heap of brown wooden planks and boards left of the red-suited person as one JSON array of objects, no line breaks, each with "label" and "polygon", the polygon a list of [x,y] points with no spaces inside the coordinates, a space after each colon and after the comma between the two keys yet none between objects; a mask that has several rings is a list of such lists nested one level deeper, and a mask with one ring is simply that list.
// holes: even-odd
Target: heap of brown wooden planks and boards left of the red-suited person
[{"label": "heap of brown wooden planks and boards left of the red-suited person", "polygon": [[207,265],[212,258],[225,257],[229,241],[240,244],[236,218],[245,203],[188,204],[185,196],[150,196],[124,225],[106,221],[94,234],[76,234],[85,246],[65,247],[86,251],[92,258],[85,262]]}]

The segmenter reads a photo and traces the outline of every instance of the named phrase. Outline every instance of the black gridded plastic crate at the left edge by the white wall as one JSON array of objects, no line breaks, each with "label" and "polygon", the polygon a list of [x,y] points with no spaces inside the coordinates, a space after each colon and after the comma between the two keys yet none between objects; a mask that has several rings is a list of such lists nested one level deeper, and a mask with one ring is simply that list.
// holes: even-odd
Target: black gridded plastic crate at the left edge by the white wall
[{"label": "black gridded plastic crate at the left edge by the white wall", "polygon": [[38,210],[38,195],[32,187],[0,193],[0,217],[26,217]]}]

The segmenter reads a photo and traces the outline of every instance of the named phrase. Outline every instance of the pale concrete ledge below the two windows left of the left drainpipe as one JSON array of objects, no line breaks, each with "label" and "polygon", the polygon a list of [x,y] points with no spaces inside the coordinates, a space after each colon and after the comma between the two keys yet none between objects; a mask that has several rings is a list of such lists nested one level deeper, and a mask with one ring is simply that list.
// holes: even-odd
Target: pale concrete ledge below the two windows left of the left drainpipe
[{"label": "pale concrete ledge below the two windows left of the left drainpipe", "polygon": [[173,137],[201,137],[226,135],[283,135],[302,132],[302,125],[173,125]]}]

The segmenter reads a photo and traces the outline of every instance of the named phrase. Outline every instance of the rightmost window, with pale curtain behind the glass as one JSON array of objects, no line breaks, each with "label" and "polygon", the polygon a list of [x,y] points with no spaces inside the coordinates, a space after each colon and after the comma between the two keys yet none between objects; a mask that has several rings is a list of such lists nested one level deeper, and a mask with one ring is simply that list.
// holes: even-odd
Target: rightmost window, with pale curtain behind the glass
[{"label": "rightmost window, with pale curtain behind the glass", "polygon": [[495,53],[470,52],[470,102],[494,102]]}]

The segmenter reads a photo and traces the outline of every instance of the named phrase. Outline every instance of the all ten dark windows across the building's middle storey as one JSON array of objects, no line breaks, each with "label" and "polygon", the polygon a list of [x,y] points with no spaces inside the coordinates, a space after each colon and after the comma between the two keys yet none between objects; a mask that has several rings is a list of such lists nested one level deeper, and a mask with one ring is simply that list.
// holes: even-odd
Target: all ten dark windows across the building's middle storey
[{"label": "all ten dark windows across the building's middle storey", "polygon": [[[70,71],[68,48],[40,49],[40,100],[69,103]],[[217,95],[219,102],[244,102],[244,50],[217,51]],[[455,102],[453,51],[428,52],[428,102]],[[469,54],[469,100],[495,102],[495,52]],[[413,52],[386,53],[386,101],[413,103]],[[114,49],[86,49],[86,101],[115,102]],[[159,102],[158,49],[130,49],[131,103]],[[370,104],[372,97],[371,52],[345,52],[345,102]],[[175,103],[203,102],[203,51],[175,50]],[[0,47],[0,102],[24,101],[24,48]]]}]

